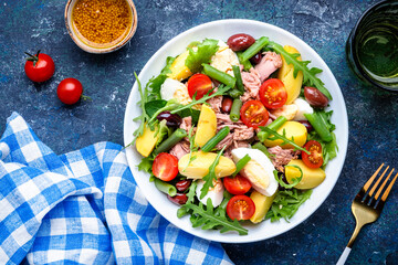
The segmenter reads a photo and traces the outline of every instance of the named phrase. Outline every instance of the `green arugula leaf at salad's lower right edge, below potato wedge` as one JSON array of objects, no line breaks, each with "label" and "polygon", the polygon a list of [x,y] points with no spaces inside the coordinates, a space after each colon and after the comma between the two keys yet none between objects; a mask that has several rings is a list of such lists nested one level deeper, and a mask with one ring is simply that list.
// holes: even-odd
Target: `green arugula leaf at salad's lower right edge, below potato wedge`
[{"label": "green arugula leaf at salad's lower right edge, below potato wedge", "polygon": [[301,204],[310,199],[311,194],[312,190],[298,191],[297,189],[292,189],[277,191],[265,219],[271,219],[271,222],[275,222],[283,218],[289,222]]}]

